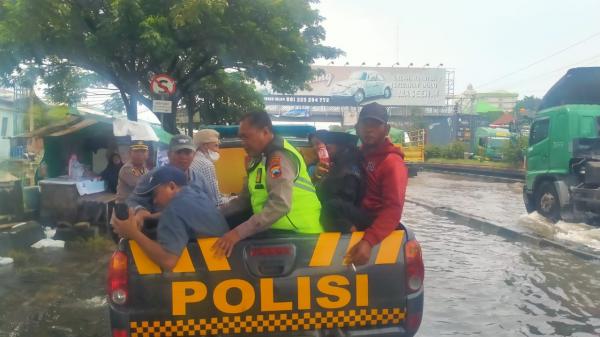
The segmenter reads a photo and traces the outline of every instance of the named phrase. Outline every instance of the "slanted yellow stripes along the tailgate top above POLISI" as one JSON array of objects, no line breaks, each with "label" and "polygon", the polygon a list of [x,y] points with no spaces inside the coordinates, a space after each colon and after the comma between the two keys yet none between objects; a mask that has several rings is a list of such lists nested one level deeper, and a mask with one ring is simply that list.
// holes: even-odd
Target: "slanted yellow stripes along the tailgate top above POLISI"
[{"label": "slanted yellow stripes along the tailgate top above POLISI", "polygon": [[[309,267],[329,267],[333,264],[334,256],[338,249],[341,233],[321,233],[317,239],[315,249],[312,257],[308,264]],[[364,232],[352,233],[346,252],[350,250],[356,243],[358,243]],[[217,258],[214,256],[211,247],[216,242],[217,238],[204,238],[198,239],[198,247],[202,253],[202,257],[206,262],[208,271],[230,271],[231,266],[226,257]],[[402,242],[404,240],[404,231],[397,230],[392,232],[387,238],[385,238],[379,245],[377,255],[375,257],[375,264],[395,264],[400,254]],[[142,251],[139,245],[133,241],[129,241],[131,254],[133,256],[133,262],[135,263],[138,273],[140,275],[151,275],[162,273],[161,268],[154,263],[146,254]],[[342,249],[340,247],[340,249]],[[342,262],[343,263],[343,262]],[[173,269],[174,273],[193,273],[196,271],[190,252],[187,247],[181,253],[177,265]]]}]

